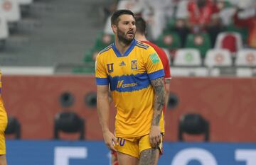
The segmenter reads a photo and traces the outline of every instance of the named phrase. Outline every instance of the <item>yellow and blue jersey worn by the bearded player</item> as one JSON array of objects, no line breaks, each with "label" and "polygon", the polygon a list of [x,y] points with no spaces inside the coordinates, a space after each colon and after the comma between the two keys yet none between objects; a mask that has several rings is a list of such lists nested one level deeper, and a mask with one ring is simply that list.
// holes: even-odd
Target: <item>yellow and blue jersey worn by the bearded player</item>
[{"label": "yellow and blue jersey worn by the bearded player", "polygon": [[[164,76],[164,69],[153,47],[132,40],[124,52],[114,43],[96,58],[96,84],[110,85],[117,109],[116,137],[139,137],[150,132],[154,112],[154,89],[151,80]],[[164,132],[164,117],[159,123]]]}]

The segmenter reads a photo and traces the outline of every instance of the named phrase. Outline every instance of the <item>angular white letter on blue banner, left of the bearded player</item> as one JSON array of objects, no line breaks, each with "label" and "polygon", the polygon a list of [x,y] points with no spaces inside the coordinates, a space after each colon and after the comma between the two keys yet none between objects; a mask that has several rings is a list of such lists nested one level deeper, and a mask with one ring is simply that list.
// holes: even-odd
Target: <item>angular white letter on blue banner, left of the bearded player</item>
[{"label": "angular white letter on blue banner, left of the bearded player", "polygon": [[72,158],[86,159],[86,147],[55,147],[54,149],[54,165],[69,165],[68,160]]}]

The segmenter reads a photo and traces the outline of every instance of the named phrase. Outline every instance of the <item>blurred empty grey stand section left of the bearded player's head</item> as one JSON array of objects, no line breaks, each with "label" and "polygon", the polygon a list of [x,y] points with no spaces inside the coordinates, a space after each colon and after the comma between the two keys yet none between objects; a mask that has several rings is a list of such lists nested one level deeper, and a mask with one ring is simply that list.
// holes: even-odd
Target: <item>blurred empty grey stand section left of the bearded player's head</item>
[{"label": "blurred empty grey stand section left of the bearded player's head", "polygon": [[54,68],[59,63],[82,62],[85,50],[93,46],[102,27],[95,8],[107,3],[33,1],[29,15],[18,21],[18,30],[6,39],[0,65]]}]

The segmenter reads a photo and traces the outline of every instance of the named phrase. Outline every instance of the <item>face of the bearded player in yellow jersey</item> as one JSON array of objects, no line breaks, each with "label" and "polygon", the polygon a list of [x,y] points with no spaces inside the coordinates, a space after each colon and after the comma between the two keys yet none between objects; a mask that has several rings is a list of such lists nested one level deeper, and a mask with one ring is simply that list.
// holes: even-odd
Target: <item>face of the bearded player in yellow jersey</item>
[{"label": "face of the bearded player in yellow jersey", "polygon": [[115,31],[117,38],[124,44],[129,45],[134,39],[135,32],[136,26],[134,17],[127,14],[119,16],[119,22]]}]

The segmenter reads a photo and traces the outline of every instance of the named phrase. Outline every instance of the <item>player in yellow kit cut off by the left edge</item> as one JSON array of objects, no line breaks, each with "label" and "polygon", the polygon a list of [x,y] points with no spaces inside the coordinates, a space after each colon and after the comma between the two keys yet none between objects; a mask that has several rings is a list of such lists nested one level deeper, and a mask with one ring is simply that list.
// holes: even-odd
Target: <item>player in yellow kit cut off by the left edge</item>
[{"label": "player in yellow kit cut off by the left edge", "polygon": [[6,162],[6,144],[4,131],[7,126],[7,115],[4,109],[4,103],[1,98],[1,71],[0,71],[0,165],[7,165]]}]

